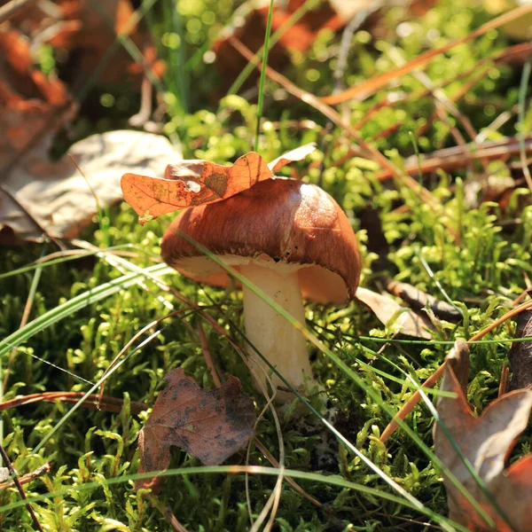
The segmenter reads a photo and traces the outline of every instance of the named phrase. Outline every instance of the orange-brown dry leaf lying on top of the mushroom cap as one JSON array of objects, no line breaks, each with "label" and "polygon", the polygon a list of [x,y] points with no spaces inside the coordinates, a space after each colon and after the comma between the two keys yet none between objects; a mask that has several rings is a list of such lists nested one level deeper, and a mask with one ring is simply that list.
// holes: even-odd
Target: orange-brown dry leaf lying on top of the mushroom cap
[{"label": "orange-brown dry leaf lying on top of the mushroom cap", "polygon": [[146,223],[185,207],[226,200],[254,184],[271,179],[273,172],[314,151],[314,144],[285,153],[270,164],[255,152],[242,155],[232,166],[208,160],[181,160],[166,168],[164,178],[125,174],[121,188],[126,200]]}]

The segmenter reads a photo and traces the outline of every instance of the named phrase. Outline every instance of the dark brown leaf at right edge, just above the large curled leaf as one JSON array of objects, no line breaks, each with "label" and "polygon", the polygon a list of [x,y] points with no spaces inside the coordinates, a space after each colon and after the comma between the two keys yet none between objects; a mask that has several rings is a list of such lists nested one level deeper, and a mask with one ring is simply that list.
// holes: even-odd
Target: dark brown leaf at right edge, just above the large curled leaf
[{"label": "dark brown leaf at right edge, just above the large curled leaf", "polygon": [[[517,315],[516,338],[532,336],[532,309],[523,310]],[[516,341],[508,353],[510,362],[510,389],[532,386],[532,341]]]}]

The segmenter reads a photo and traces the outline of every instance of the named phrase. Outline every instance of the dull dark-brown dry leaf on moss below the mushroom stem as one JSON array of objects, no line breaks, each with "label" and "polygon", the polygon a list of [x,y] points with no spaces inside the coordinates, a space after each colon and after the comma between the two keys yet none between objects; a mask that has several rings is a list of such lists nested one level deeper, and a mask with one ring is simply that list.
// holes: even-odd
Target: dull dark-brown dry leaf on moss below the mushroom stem
[{"label": "dull dark-brown dry leaf on moss below the mushroom stem", "polygon": [[[165,382],[138,434],[139,472],[167,469],[172,446],[200,458],[204,465],[219,465],[254,435],[254,404],[236,377],[222,387],[204,390],[184,370],[175,369]],[[137,481],[136,487],[157,489],[160,482]]]}]

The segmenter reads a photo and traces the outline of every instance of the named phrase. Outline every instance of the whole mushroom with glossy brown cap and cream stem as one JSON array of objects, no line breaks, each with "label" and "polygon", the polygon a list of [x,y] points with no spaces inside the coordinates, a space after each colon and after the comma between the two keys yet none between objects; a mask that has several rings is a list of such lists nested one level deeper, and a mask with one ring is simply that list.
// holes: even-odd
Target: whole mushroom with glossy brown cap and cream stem
[{"label": "whole mushroom with glossy brown cap and cream stem", "polygon": [[[302,325],[303,299],[340,303],[355,295],[361,269],[355,233],[336,201],[314,184],[269,179],[227,200],[184,209],[170,224],[162,239],[163,260],[197,282],[227,286],[226,271],[181,238],[180,231]],[[247,286],[243,292],[247,339],[293,387],[316,384],[301,331]],[[282,384],[276,375],[272,379],[274,386]],[[278,394],[281,401],[290,397]]]}]

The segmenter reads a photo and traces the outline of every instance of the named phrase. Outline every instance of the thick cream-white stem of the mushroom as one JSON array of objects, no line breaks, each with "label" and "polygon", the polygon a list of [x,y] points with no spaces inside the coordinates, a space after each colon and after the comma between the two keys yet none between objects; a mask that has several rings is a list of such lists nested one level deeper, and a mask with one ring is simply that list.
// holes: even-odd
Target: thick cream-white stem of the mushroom
[{"label": "thick cream-white stem of the mushroom", "polygon": [[[286,272],[279,272],[273,270],[275,266],[278,265],[272,264],[272,267],[268,267],[250,261],[246,266],[241,266],[240,271],[254,286],[269,295],[288,314],[304,325],[305,309],[297,270],[290,268],[285,269]],[[305,382],[305,377],[312,379],[304,336],[247,286],[244,286],[244,323],[247,338],[293,387],[300,388]],[[258,377],[266,382],[262,369],[268,372],[270,368],[260,360],[252,348],[248,350],[257,360]],[[285,386],[277,375],[271,375],[271,379],[275,387]],[[292,398],[291,394],[278,393],[278,399],[282,402]]]}]

